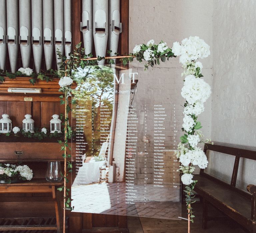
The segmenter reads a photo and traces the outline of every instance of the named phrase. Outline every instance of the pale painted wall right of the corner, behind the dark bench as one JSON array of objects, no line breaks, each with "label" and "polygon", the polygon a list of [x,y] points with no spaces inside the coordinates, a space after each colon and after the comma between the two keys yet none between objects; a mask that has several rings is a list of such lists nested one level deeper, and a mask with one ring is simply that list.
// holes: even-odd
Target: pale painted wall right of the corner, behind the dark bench
[{"label": "pale painted wall right of the corner, behind the dark bench", "polygon": [[[213,19],[212,139],[255,146],[256,1],[215,0]],[[212,158],[208,170],[227,182],[233,161]],[[240,161],[237,179],[242,189],[256,184],[256,162]]]}]

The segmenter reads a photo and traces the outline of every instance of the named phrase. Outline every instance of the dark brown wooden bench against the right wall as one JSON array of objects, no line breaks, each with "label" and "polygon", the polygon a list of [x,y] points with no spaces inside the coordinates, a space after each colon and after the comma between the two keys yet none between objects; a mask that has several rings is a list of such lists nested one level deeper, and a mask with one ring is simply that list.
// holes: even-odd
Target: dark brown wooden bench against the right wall
[{"label": "dark brown wooden bench against the right wall", "polygon": [[[248,192],[245,192],[236,188],[236,180],[240,158],[256,160],[256,151],[221,143],[205,144],[204,152],[207,153],[208,150],[233,155],[235,161],[230,184],[206,174],[203,169],[200,170],[199,175],[194,177],[195,180],[198,180],[194,190],[202,197],[203,201],[203,228],[207,228],[207,221],[209,220],[207,218],[207,206],[211,203],[251,233],[255,233],[256,186],[249,184],[247,186]],[[255,177],[255,174],[251,175]]]}]

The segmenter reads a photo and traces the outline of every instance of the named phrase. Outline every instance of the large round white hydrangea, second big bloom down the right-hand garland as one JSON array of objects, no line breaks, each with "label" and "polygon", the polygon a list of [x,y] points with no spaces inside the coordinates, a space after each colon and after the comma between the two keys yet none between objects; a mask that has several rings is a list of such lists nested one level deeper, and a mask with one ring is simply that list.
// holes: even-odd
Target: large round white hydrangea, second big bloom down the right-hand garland
[{"label": "large round white hydrangea, second big bloom down the right-hand garland", "polygon": [[211,95],[211,87],[203,79],[188,75],[185,77],[181,95],[191,105],[196,101],[204,103]]}]

